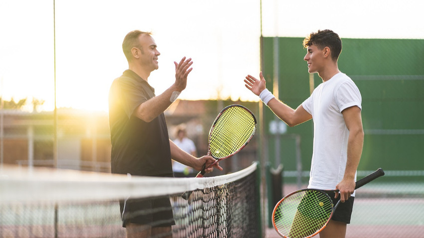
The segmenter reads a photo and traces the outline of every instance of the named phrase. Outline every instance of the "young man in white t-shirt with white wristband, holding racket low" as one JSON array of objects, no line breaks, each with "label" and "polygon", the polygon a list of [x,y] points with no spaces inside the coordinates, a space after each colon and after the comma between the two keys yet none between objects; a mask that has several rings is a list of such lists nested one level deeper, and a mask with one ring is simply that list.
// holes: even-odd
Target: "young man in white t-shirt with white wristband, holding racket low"
[{"label": "young man in white t-shirt with white wristband, holding racket low", "polygon": [[259,79],[248,75],[247,89],[267,105],[287,125],[307,120],[314,122],[314,143],[308,188],[339,189],[330,195],[342,202],[320,238],[344,238],[352,214],[356,170],[361,159],[364,130],[361,119],[361,94],[355,83],[340,72],[337,61],[342,40],[332,30],[319,30],[303,40],[307,48],[303,58],[309,73],[318,73],[322,83],[297,109],[277,100]]}]

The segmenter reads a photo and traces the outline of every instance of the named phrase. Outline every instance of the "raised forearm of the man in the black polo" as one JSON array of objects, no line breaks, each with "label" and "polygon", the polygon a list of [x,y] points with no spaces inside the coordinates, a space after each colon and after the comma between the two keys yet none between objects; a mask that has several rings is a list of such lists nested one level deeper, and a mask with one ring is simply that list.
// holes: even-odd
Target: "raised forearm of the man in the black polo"
[{"label": "raised forearm of the man in the black polo", "polygon": [[[174,102],[175,94],[174,92],[180,93],[175,85],[172,85],[170,88],[165,90],[161,95],[153,97],[148,101],[140,104],[134,110],[134,116],[146,121],[150,122],[160,114],[165,112],[167,108]],[[174,95],[173,95],[174,93]]]}]

